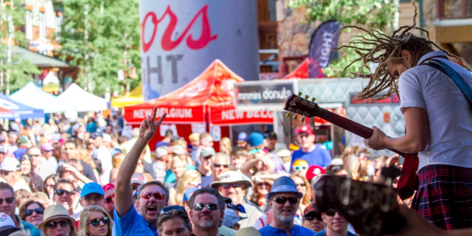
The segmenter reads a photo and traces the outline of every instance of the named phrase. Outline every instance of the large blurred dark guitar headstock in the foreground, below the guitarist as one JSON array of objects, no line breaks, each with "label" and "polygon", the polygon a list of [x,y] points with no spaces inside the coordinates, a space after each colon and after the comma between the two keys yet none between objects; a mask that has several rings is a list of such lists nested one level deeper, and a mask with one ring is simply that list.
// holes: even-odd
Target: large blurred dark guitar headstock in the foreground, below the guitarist
[{"label": "large blurred dark guitar headstock in the foreground, below the guitarist", "polygon": [[314,185],[321,212],[336,209],[359,235],[394,234],[405,225],[396,189],[341,176],[322,176]]}]

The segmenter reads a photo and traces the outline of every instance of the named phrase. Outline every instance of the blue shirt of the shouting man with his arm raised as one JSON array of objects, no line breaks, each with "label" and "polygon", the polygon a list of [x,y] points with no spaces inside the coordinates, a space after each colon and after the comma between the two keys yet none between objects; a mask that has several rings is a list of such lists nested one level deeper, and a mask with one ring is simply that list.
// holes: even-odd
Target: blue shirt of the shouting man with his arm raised
[{"label": "blue shirt of the shouting man with his arm raised", "polygon": [[116,233],[118,235],[133,235],[133,236],[158,236],[157,228],[147,222],[143,216],[141,216],[135,209],[134,206],[131,206],[128,212],[120,218],[118,212],[115,209],[113,211],[113,216],[115,219]]}]

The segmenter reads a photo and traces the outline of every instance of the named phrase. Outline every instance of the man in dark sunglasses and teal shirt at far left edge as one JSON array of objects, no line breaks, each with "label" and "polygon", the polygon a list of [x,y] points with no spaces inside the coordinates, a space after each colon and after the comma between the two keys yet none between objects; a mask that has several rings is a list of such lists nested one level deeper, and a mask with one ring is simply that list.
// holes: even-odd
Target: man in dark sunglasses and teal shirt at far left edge
[{"label": "man in dark sunglasses and teal shirt at far left edge", "polygon": [[15,208],[17,207],[17,202],[15,201],[15,194],[13,188],[7,183],[0,182],[0,212],[7,214],[13,222],[15,222],[15,227],[23,230],[29,230],[31,236],[41,236],[41,230],[39,230],[33,224],[30,224],[15,214]]}]

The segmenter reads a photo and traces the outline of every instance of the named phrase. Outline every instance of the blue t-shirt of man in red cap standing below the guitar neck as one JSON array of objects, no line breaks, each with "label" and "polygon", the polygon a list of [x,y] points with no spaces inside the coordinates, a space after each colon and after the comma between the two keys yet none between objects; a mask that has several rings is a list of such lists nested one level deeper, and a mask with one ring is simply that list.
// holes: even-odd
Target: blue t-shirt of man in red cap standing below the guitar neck
[{"label": "blue t-shirt of man in red cap standing below the guitar neck", "polygon": [[294,164],[295,160],[300,159],[308,162],[308,166],[317,165],[327,167],[333,158],[331,157],[331,153],[326,150],[322,144],[317,143],[315,149],[313,149],[312,152],[303,152],[302,149],[299,149],[292,154],[290,171],[292,171],[292,165]]}]

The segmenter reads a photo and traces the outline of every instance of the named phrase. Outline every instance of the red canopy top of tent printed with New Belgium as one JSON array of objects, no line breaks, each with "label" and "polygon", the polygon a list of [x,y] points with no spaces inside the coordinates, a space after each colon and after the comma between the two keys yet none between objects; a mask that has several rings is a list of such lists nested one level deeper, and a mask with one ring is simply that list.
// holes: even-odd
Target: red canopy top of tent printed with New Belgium
[{"label": "red canopy top of tent printed with New Belgium", "polygon": [[125,107],[124,118],[130,124],[139,124],[146,116],[151,115],[156,106],[156,117],[167,112],[163,121],[167,124],[272,124],[272,112],[235,110],[233,84],[243,81],[243,78],[216,59],[202,74],[176,91],[142,104]]}]

